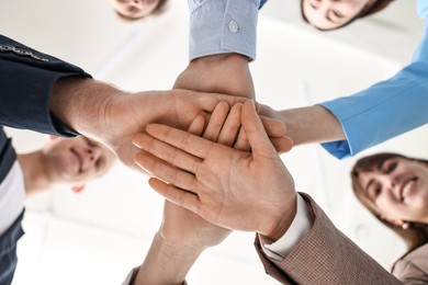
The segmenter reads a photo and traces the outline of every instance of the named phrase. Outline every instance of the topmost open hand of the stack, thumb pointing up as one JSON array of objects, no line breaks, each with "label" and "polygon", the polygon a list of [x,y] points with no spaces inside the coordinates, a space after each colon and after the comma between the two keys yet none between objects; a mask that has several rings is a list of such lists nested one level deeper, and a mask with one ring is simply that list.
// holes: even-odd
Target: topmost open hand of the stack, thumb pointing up
[{"label": "topmost open hand of the stack, thumb pointing up", "polygon": [[167,200],[221,227],[277,240],[295,216],[294,182],[251,102],[243,106],[241,124],[251,153],[169,126],[148,125],[147,134],[134,138],[144,150],[135,160],[159,178],[149,183]]}]

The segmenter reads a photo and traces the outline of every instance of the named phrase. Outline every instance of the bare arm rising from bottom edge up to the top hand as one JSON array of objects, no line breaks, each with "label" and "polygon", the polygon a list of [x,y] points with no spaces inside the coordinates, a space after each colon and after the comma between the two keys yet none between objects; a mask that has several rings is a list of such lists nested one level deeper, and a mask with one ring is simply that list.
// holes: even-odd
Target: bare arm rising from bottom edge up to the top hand
[{"label": "bare arm rising from bottom edge up to the top hand", "polygon": [[199,255],[229,233],[230,230],[166,202],[160,229],[132,284],[183,284]]}]

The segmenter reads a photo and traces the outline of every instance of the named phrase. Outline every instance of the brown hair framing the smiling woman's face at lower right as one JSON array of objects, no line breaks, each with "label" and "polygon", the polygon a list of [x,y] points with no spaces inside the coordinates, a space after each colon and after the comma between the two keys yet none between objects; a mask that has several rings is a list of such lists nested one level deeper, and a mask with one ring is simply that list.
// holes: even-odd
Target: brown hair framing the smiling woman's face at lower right
[{"label": "brown hair framing the smiling woman's face at lower right", "polygon": [[[410,161],[419,161],[428,166],[428,160],[409,158],[398,153],[383,152],[369,157],[361,158],[353,166],[351,171],[352,190],[357,198],[364,205],[383,225],[392,229],[395,233],[402,237],[407,244],[407,252],[414,251],[416,248],[428,242],[428,225],[421,223],[409,223],[408,229],[403,229],[399,226],[393,225],[387,220],[381,218],[378,207],[374,203],[365,195],[365,192],[359,182],[359,174],[362,172],[369,172],[374,169],[379,169],[384,161],[393,158],[401,158]],[[402,256],[402,258],[403,258]],[[401,258],[401,259],[402,259]]]}]

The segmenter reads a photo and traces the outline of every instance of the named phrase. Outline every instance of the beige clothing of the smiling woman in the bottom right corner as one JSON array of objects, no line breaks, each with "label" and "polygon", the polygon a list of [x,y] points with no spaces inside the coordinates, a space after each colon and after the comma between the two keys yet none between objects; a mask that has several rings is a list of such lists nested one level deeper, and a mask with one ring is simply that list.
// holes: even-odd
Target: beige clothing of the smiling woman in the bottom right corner
[{"label": "beige clothing of the smiling woman in the bottom right corner", "polygon": [[428,243],[398,260],[393,273],[404,284],[428,284]]}]

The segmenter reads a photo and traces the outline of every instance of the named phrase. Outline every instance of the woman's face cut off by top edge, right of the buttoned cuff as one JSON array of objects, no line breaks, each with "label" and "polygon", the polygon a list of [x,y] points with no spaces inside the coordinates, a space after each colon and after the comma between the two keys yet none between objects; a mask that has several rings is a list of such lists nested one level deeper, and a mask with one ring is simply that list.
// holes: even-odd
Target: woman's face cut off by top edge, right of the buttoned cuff
[{"label": "woman's face cut off by top edge, right of the buttoned cuff", "polygon": [[373,0],[302,0],[306,20],[320,30],[333,30],[347,24],[371,7]]}]

